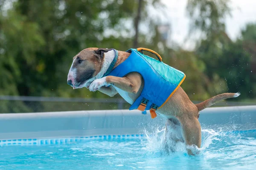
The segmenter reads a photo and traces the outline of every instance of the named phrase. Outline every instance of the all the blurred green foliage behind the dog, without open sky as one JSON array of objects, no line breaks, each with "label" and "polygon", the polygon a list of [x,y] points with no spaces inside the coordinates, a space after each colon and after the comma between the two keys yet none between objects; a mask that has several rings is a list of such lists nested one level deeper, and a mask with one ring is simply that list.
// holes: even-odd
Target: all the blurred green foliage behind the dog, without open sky
[{"label": "all the blurred green foliage behind the dog, without open sky", "polygon": [[[73,56],[84,48],[122,51],[131,48],[134,42],[131,28],[138,2],[0,0],[0,95],[107,99],[100,92],[73,90],[66,83],[68,70]],[[249,24],[236,42],[230,40],[224,25],[224,17],[230,12],[228,3],[228,0],[188,0],[191,33],[201,31],[206,35],[198,40],[194,52],[188,52],[166,47],[157,31],[158,21],[146,10],[147,6],[154,6],[163,11],[164,6],[160,0],[143,0],[140,23],[150,32],[140,32],[138,44],[158,52],[165,63],[186,74],[182,87],[192,100],[205,100],[227,90],[240,91],[244,99],[256,96],[256,25]],[[11,6],[6,8],[6,4]],[[1,112],[49,111],[54,107],[61,105],[21,101],[0,104]],[[63,108],[68,110],[68,105]]]}]

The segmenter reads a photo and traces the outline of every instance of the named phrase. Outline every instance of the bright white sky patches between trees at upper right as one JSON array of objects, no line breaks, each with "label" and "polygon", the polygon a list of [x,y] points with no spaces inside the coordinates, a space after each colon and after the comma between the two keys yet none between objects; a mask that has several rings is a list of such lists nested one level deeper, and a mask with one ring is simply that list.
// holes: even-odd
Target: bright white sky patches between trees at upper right
[{"label": "bright white sky patches between trees at upper right", "polygon": [[[240,35],[246,23],[256,23],[256,0],[230,0],[232,17],[226,18],[226,32],[232,40]],[[167,7],[168,21],[171,23],[169,39],[183,49],[193,49],[194,41],[184,43],[189,31],[189,18],[186,13],[187,0],[162,0]]]}]

